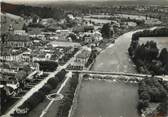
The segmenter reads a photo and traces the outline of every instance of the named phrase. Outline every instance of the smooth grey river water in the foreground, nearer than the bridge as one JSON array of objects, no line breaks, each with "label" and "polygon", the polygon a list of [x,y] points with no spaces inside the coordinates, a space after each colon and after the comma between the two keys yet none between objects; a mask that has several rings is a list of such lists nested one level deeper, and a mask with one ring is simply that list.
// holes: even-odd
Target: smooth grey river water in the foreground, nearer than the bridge
[{"label": "smooth grey river water in the foreground, nearer than the bridge", "polygon": [[138,117],[135,84],[83,81],[74,117]]}]

